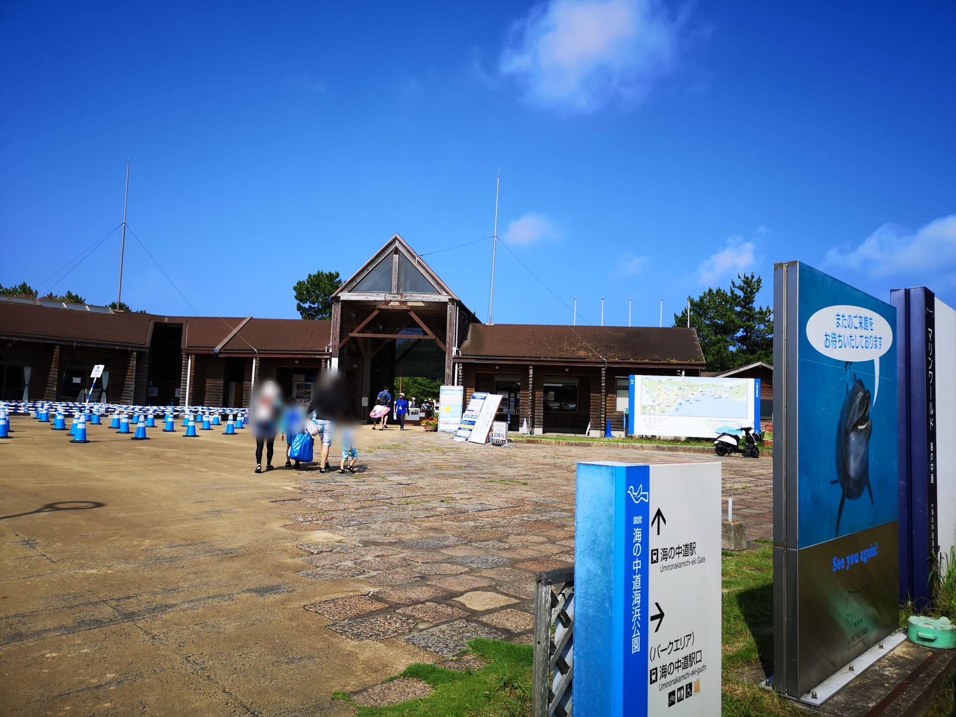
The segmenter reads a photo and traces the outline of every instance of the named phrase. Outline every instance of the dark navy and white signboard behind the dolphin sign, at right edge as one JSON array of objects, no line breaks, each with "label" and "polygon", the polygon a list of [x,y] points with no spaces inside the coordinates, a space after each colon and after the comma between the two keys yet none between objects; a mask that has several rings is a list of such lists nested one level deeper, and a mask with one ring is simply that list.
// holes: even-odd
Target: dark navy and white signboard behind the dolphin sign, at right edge
[{"label": "dark navy and white signboard behind the dolphin sign, at right edge", "polygon": [[900,397],[900,599],[928,605],[930,570],[956,547],[956,311],[894,289]]}]

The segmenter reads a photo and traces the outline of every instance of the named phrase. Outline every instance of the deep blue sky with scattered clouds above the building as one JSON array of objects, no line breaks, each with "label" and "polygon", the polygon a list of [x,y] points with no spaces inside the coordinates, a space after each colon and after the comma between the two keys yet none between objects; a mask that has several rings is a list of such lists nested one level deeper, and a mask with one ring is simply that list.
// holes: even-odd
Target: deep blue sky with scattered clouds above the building
[{"label": "deep blue sky with scattered clouds above the building", "polygon": [[[956,5],[0,4],[0,283],[120,224],[201,314],[499,234],[581,322],[799,259],[956,305]],[[490,241],[425,257],[488,317]],[[120,234],[40,289],[116,298]],[[127,234],[123,299],[191,314]],[[498,323],[571,312],[498,251]]]}]

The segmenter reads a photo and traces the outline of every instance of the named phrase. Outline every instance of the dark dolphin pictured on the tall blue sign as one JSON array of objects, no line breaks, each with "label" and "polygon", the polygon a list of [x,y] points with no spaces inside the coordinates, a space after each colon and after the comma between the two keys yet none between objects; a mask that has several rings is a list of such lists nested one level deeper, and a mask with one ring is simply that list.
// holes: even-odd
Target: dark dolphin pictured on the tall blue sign
[{"label": "dark dolphin pictured on the tall blue sign", "polygon": [[839,521],[843,514],[843,503],[847,498],[857,500],[863,489],[870,493],[870,505],[873,505],[873,489],[870,487],[870,434],[873,422],[870,420],[870,392],[863,381],[854,376],[853,385],[847,390],[843,407],[840,409],[839,423],[836,425],[836,480],[842,495],[839,510],[836,511],[836,535],[839,535]]}]

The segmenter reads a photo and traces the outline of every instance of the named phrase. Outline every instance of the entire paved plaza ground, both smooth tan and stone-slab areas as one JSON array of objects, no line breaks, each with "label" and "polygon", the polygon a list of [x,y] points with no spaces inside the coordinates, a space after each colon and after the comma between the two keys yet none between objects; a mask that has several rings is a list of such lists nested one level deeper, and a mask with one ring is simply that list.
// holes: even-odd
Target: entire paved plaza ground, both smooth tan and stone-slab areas
[{"label": "entire paved plaza ground, both smooth tan and stone-slab areas", "polygon": [[[13,715],[349,714],[334,690],[412,662],[475,666],[451,660],[474,637],[531,640],[534,573],[574,559],[577,461],[715,460],[363,429],[358,475],[256,474],[246,432],[136,442],[96,426],[70,445],[12,424],[0,712]],[[771,461],[724,466],[735,515],[770,537]]]}]

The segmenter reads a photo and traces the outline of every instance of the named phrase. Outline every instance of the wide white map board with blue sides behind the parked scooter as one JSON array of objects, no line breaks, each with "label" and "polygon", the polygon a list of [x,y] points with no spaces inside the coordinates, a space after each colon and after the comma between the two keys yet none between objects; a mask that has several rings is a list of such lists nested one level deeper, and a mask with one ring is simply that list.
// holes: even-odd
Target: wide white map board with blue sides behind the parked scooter
[{"label": "wide white map board with blue sides behind the parked scooter", "polygon": [[632,376],[629,433],[707,438],[760,427],[760,381]]}]

